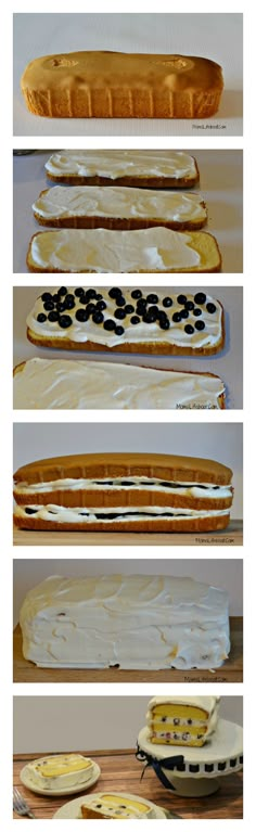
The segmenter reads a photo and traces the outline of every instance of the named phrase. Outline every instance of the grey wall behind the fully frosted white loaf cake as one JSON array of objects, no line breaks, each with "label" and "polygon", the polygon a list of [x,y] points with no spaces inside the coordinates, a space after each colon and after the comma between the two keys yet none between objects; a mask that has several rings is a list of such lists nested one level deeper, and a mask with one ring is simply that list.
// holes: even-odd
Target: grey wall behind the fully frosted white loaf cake
[{"label": "grey wall behind the fully frosted white loaf cake", "polygon": [[23,600],[36,584],[50,575],[85,577],[87,575],[174,575],[191,577],[210,584],[229,593],[230,614],[243,614],[243,561],[242,560],[16,560],[14,561],[14,626]]}]

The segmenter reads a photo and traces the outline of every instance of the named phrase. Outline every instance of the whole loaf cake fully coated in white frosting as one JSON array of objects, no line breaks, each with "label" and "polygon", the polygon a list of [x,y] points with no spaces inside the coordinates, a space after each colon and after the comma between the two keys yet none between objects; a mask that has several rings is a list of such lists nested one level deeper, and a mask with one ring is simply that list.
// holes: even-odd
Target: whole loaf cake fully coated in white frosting
[{"label": "whole loaf cake fully coated in white frosting", "polygon": [[228,596],[191,578],[53,576],[31,589],[20,623],[39,667],[213,669],[228,658]]}]

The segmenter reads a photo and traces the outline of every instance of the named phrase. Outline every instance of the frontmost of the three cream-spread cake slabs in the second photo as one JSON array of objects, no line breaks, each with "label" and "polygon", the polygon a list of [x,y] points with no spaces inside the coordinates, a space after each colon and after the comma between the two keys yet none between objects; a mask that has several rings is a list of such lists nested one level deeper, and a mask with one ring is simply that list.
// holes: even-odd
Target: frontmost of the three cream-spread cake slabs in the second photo
[{"label": "frontmost of the three cream-spread cake slabs in the second photo", "polygon": [[204,231],[68,228],[34,234],[27,266],[36,272],[209,272],[220,270],[221,258]]}]

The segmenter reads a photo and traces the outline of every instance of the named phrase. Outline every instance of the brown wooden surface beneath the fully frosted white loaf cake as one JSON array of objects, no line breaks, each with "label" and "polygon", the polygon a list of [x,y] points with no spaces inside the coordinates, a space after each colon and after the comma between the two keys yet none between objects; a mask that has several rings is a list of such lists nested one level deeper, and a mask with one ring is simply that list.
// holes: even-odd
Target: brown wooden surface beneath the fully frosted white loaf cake
[{"label": "brown wooden surface beneath the fully frosted white loaf cake", "polygon": [[243,681],[243,618],[230,618],[231,652],[228,661],[215,673],[210,670],[100,670],[37,667],[23,657],[22,632],[17,625],[13,633],[14,682],[242,682]]}]

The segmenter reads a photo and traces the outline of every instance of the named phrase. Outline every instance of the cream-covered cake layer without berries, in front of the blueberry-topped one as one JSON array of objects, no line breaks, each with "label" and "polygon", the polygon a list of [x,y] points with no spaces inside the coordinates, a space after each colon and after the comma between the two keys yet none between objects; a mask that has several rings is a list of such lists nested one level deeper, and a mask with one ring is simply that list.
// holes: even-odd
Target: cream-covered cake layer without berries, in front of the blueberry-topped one
[{"label": "cream-covered cake layer without berries, in front of the blueberry-topped one", "polygon": [[13,406],[17,410],[223,409],[225,386],[212,373],[31,358],[14,369]]}]

